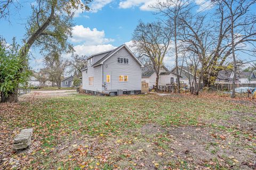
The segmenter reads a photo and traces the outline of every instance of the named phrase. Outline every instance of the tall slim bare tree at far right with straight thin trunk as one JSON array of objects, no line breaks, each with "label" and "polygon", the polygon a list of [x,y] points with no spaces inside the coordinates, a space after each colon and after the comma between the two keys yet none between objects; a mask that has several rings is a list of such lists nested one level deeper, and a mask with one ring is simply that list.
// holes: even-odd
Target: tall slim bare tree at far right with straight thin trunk
[{"label": "tall slim bare tree at far right with straight thin trunk", "polygon": [[[254,5],[256,1],[246,1],[246,0],[221,0],[219,5],[224,5],[224,10],[226,9],[226,17],[228,18],[228,23],[230,25],[230,35],[231,35],[231,47],[233,57],[233,81],[232,81],[232,94],[231,97],[235,97],[235,83],[237,75],[237,59],[235,52],[240,50],[246,50],[241,47],[241,44],[250,43],[250,41],[256,41],[256,19],[255,15],[249,13],[250,7]],[[237,45],[237,41],[243,39],[242,43]]]}]

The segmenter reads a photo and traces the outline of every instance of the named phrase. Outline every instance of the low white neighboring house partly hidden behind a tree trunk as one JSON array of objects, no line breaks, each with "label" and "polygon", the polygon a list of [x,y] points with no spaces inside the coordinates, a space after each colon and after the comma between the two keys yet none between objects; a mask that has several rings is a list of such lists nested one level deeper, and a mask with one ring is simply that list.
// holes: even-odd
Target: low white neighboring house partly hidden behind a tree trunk
[{"label": "low white neighboring house partly hidden behind a tree trunk", "polygon": [[[169,71],[165,66],[160,68],[159,73],[159,86],[165,86],[166,84],[173,84],[176,82],[176,74],[172,71]],[[153,89],[153,86],[156,85],[156,72],[151,66],[142,68],[142,81],[148,83],[149,89]]]}]

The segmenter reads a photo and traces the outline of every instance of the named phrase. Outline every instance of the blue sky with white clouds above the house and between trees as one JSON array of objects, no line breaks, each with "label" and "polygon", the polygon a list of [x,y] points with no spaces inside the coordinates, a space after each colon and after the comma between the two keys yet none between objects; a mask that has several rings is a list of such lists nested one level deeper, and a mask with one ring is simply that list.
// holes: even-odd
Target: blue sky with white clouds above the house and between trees
[{"label": "blue sky with white clouds above the house and between trees", "polygon": [[[163,1],[163,0],[162,0]],[[198,4],[198,10],[205,9],[210,5],[210,0],[194,0]],[[34,1],[19,0],[21,8],[18,12],[12,10],[11,22],[0,20],[0,35],[7,43],[11,43],[13,37],[22,44],[26,33],[25,26],[31,12],[31,3]],[[157,16],[152,8],[157,0],[94,0],[90,7],[92,11],[76,11],[73,28],[73,37],[69,38],[79,55],[91,55],[105,50],[113,49],[124,43],[131,43],[132,33],[139,20],[151,22]],[[30,66],[38,71],[43,67],[42,56],[37,49],[31,49]],[[70,55],[64,55],[69,57]],[[169,66],[174,64],[172,56],[165,58]]]}]

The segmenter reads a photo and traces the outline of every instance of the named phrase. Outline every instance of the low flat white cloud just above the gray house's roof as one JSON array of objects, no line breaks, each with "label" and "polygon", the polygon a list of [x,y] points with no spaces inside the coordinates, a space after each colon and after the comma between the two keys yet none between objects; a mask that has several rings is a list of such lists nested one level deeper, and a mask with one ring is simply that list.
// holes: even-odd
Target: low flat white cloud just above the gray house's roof
[{"label": "low flat white cloud just above the gray house's roof", "polygon": [[77,45],[74,47],[75,53],[78,55],[86,55],[90,56],[92,54],[106,52],[108,50],[116,48],[111,44],[103,44],[103,45]]}]

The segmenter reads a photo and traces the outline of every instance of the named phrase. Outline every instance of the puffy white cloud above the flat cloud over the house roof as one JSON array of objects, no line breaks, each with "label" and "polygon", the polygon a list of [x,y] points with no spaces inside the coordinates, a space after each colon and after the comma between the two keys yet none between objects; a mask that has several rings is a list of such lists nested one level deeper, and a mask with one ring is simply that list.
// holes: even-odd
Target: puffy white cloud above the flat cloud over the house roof
[{"label": "puffy white cloud above the flat cloud over the house roof", "polygon": [[92,30],[89,27],[83,25],[75,25],[72,30],[72,36],[70,39],[73,43],[84,43],[86,45],[98,45],[113,42],[114,39],[105,38],[105,31],[99,31],[97,28]]}]

